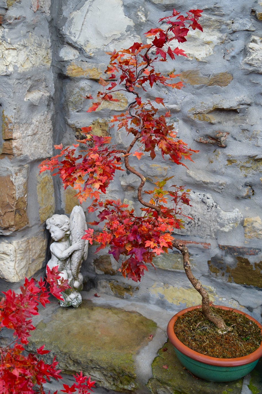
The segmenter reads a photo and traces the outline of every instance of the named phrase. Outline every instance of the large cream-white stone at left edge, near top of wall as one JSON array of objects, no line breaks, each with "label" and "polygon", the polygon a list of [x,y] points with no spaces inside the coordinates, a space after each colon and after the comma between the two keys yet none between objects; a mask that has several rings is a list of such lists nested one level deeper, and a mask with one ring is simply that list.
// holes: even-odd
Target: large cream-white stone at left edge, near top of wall
[{"label": "large cream-white stone at left edge, near top of wall", "polygon": [[[1,33],[1,32],[0,32]],[[9,75],[13,71],[23,72],[33,67],[51,65],[51,43],[47,39],[29,33],[26,38],[9,43],[4,32],[0,35],[0,75]]]}]

